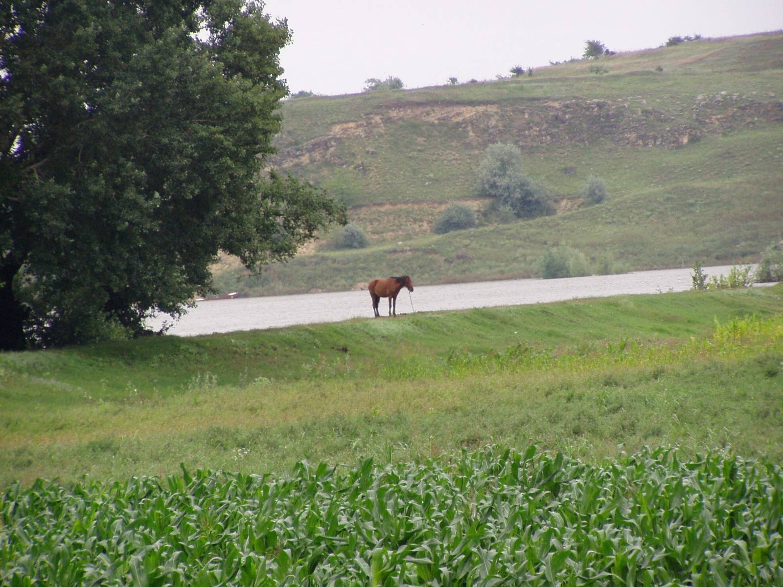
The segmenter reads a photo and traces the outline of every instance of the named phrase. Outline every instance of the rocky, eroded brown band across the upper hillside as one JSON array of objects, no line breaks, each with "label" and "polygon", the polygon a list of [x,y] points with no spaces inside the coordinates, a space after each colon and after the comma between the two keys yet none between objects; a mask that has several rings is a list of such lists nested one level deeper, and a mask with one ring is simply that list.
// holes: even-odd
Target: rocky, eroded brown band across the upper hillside
[{"label": "rocky, eroded brown band across the upper hillside", "polygon": [[[513,142],[521,149],[563,143],[590,144],[608,140],[617,146],[677,148],[704,134],[783,121],[783,102],[774,95],[697,95],[692,103],[666,96],[605,99],[519,99],[501,103],[399,102],[375,107],[359,121],[333,124],[327,135],[298,146],[278,144],[271,163],[333,164],[345,167],[339,146],[351,138],[363,143],[363,155],[372,157],[385,135],[406,132],[399,125],[415,121],[426,127],[449,128],[466,146],[483,149],[492,142]],[[424,142],[424,139],[420,139]],[[355,153],[350,153],[355,155]]]}]

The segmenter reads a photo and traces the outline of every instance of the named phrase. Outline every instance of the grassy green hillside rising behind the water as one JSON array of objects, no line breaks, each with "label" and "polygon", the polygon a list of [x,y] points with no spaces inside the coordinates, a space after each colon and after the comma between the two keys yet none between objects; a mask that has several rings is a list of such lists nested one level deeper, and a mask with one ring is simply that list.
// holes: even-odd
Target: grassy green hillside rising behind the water
[{"label": "grassy green hillside rising behind the water", "polygon": [[[775,32],[511,79],[290,99],[272,164],[344,200],[370,247],[334,250],[323,235],[259,278],[226,259],[215,283],[258,295],[345,290],[401,273],[421,284],[537,276],[543,251],[558,243],[596,271],[752,261],[783,229],[781,97]],[[432,234],[447,203],[485,205],[475,172],[493,142],[520,147],[557,214]],[[595,206],[579,197],[590,175],[608,188]]]}]

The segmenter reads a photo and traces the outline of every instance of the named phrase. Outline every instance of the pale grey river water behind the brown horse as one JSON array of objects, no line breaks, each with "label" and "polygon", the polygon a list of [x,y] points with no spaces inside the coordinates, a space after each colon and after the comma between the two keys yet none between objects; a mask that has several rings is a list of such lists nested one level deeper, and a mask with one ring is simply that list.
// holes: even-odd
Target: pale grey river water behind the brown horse
[{"label": "pale grey river water behind the brown horse", "polygon": [[[705,267],[708,275],[728,275],[731,265]],[[443,286],[416,286],[413,294],[402,290],[397,298],[397,313],[433,312],[463,308],[488,308],[580,297],[604,297],[619,294],[655,294],[691,288],[691,269],[662,269],[622,275],[590,275],[566,279],[509,279],[453,283]],[[381,315],[388,312],[388,301],[381,298]],[[198,302],[168,332],[182,337],[310,324],[340,322],[373,316],[370,294],[366,291],[342,291],[330,294],[237,297],[233,300]],[[159,328],[163,315],[150,319]]]}]

